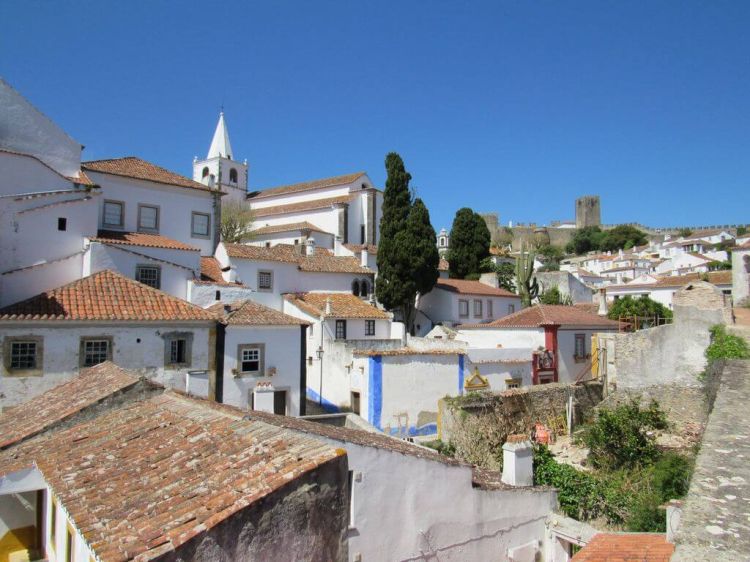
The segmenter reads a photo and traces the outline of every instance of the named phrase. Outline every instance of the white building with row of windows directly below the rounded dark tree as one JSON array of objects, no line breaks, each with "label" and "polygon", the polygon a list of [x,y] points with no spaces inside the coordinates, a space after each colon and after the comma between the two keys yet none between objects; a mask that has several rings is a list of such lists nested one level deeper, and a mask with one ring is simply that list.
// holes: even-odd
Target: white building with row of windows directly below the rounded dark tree
[{"label": "white building with row of windows directly below the rounded dark tree", "polygon": [[480,281],[437,280],[417,303],[417,335],[427,334],[438,324],[455,326],[469,321],[492,322],[521,308],[521,297]]}]

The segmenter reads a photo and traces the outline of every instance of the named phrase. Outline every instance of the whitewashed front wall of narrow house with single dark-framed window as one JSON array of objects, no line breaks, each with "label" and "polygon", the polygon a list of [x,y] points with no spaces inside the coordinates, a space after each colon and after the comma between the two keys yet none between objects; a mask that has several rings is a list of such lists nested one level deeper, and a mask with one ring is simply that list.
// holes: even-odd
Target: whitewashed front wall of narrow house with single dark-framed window
[{"label": "whitewashed front wall of narrow house with single dark-framed window", "polygon": [[[270,382],[275,390],[287,391],[287,415],[300,413],[300,326],[227,326],[224,340],[224,388],[225,404],[248,408],[249,394],[258,382]],[[276,374],[268,376],[235,376],[237,349],[244,344],[264,344],[266,372],[276,368]]]}]

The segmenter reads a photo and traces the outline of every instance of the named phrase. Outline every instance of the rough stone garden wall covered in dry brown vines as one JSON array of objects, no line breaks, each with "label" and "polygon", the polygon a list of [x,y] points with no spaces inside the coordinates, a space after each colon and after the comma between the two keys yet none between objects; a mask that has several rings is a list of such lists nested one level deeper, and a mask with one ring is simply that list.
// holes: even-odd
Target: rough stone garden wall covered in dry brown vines
[{"label": "rough stone garden wall covered in dry brown vines", "polygon": [[530,434],[536,423],[566,417],[573,393],[574,425],[590,416],[602,400],[602,385],[554,383],[444,398],[438,404],[438,435],[456,447],[459,459],[484,468],[501,468],[502,445],[512,433]]}]

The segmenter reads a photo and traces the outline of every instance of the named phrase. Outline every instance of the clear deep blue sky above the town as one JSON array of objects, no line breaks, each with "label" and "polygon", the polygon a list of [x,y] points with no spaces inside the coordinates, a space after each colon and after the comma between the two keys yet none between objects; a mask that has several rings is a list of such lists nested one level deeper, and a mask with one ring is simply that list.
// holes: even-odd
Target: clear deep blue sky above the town
[{"label": "clear deep blue sky above the town", "polygon": [[[0,75],[86,145],[189,175],[224,104],[251,188],[398,151],[436,228],[750,222],[750,2],[2,0]],[[1,108],[0,108],[1,110]]]}]

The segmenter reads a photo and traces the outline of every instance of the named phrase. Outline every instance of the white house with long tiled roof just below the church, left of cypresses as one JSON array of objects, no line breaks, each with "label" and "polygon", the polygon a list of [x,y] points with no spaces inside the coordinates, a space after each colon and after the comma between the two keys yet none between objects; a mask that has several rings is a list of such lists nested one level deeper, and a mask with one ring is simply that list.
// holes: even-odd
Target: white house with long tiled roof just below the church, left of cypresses
[{"label": "white house with long tiled roof just below the church, left of cypresses", "polygon": [[252,299],[282,310],[285,293],[327,291],[367,297],[374,287],[374,272],[351,256],[306,244],[277,244],[269,248],[221,243],[216,258],[227,269],[227,280],[255,291]]}]

